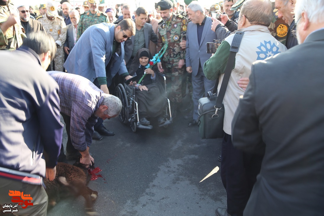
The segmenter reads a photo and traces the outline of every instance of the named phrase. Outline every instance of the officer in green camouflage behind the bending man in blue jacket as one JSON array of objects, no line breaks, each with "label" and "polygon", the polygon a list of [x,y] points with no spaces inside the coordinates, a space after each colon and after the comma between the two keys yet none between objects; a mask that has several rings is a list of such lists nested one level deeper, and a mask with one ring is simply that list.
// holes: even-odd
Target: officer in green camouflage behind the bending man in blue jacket
[{"label": "officer in green camouflage behind the bending man in blue jacket", "polygon": [[81,14],[80,21],[78,24],[78,34],[76,36],[76,41],[79,40],[82,33],[94,24],[109,22],[109,17],[106,13],[98,10],[100,1],[99,0],[88,0],[88,6],[90,10],[86,13]]}]

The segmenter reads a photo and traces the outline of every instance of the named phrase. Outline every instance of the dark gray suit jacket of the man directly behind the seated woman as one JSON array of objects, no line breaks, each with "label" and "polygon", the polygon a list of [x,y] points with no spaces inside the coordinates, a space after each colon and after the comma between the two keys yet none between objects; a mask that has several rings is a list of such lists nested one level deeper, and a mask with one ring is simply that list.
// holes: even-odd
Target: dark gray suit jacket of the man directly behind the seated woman
[{"label": "dark gray suit jacket of the man directly behind the seated woman", "polygon": [[[153,31],[152,25],[149,23],[144,24],[144,37],[145,37],[145,48],[146,49],[148,49],[150,40],[153,43],[157,42],[157,35]],[[125,42],[126,53],[125,53],[124,59],[125,59],[126,64],[132,57],[132,52],[133,52],[133,48],[134,48],[134,40],[135,40],[135,36],[132,36],[131,40],[126,40],[126,42]]]}]

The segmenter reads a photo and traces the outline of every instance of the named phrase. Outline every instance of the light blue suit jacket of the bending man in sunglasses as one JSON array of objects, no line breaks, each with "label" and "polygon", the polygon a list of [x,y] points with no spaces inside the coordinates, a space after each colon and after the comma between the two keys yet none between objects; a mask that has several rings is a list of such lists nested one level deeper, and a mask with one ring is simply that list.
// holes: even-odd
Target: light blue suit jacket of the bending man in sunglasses
[{"label": "light blue suit jacket of the bending man in sunglasses", "polygon": [[[124,64],[124,42],[112,53],[115,24],[99,23],[92,25],[81,35],[64,63],[68,73],[86,77],[93,82],[97,77],[107,76],[107,86],[117,73],[128,74]],[[114,63],[106,74],[106,66]]]}]

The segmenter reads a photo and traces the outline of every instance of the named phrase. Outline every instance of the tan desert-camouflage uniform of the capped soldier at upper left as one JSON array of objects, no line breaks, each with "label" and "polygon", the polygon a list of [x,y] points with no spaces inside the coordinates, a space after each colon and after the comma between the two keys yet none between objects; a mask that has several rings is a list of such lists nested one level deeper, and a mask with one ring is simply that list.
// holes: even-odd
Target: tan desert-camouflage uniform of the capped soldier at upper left
[{"label": "tan desert-camouflage uniform of the capped soldier at upper left", "polygon": [[46,17],[46,14],[37,19],[44,27],[47,34],[50,34],[57,45],[57,51],[54,57],[55,71],[63,71],[64,64],[64,51],[63,46],[66,40],[66,25],[64,19],[60,16],[54,17],[50,20]]}]

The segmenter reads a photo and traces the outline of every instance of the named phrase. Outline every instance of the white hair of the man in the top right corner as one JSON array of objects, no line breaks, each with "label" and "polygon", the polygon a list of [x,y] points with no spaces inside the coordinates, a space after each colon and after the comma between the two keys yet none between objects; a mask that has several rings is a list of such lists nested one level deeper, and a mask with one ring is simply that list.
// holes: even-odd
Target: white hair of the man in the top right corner
[{"label": "white hair of the man in the top right corner", "polygon": [[309,22],[324,22],[324,1],[323,0],[298,0],[295,5],[295,22],[301,17],[302,12],[307,13]]}]

